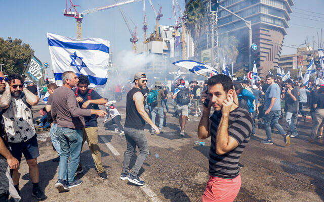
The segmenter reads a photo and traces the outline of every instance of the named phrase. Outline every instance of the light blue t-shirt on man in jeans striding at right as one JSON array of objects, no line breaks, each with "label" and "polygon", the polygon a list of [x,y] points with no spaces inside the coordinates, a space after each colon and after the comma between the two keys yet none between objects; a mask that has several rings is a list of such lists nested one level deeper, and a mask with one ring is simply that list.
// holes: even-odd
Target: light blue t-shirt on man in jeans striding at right
[{"label": "light blue t-shirt on man in jeans striding at right", "polygon": [[268,108],[270,107],[272,97],[275,97],[276,99],[275,99],[273,107],[271,108],[271,111],[281,110],[281,106],[280,106],[280,87],[276,83],[270,85],[268,87],[267,91],[265,92],[265,100],[264,100],[265,108],[264,108],[264,111],[267,111]]}]

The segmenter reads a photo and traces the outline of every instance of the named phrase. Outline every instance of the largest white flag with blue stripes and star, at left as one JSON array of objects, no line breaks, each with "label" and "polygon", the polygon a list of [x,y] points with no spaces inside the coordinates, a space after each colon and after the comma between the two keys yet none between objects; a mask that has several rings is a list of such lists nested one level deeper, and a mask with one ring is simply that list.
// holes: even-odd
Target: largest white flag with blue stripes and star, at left
[{"label": "largest white flag with blue stripes and star, at left", "polygon": [[75,39],[47,33],[55,81],[62,85],[62,74],[73,71],[87,75],[90,87],[107,82],[110,42],[101,38]]}]

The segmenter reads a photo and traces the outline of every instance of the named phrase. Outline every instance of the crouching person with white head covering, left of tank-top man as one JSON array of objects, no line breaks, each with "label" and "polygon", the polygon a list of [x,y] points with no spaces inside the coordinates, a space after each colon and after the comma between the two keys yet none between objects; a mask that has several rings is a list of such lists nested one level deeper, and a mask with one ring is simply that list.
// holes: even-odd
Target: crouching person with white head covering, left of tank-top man
[{"label": "crouching person with white head covering, left of tank-top man", "polygon": [[105,123],[110,116],[111,119],[107,123],[105,123],[105,127],[108,128],[108,126],[116,124],[118,126],[119,130],[116,128],[115,128],[115,130],[119,132],[119,136],[125,135],[124,128],[120,124],[120,120],[121,120],[120,113],[115,108],[115,106],[113,106],[114,104],[117,103],[116,100],[111,100],[109,102],[108,102],[107,98],[105,98],[105,100],[107,101],[107,103],[104,106],[106,108],[106,112],[108,113],[108,115],[106,116],[105,120],[102,123]]}]

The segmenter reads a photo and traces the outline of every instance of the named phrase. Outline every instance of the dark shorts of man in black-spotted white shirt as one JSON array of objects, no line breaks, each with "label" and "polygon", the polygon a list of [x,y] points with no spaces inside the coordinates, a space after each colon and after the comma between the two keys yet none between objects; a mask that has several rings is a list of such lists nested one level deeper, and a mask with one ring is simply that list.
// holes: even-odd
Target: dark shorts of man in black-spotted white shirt
[{"label": "dark shorts of man in black-spotted white shirt", "polygon": [[11,147],[12,156],[14,156],[19,161],[19,163],[22,154],[24,154],[26,160],[35,159],[39,157],[36,134],[25,142],[9,142],[9,145]]}]

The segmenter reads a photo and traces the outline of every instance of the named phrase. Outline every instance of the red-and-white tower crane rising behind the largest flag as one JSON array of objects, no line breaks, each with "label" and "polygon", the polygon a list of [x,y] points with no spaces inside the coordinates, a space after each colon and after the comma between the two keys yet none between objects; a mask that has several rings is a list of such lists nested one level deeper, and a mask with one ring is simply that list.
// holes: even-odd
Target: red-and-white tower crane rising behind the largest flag
[{"label": "red-and-white tower crane rising behind the largest flag", "polygon": [[[71,3],[71,6],[69,9],[67,9],[67,2]],[[94,13],[97,11],[102,11],[102,10],[106,10],[106,9],[111,9],[114,7],[118,7],[121,5],[125,5],[125,4],[129,4],[129,3],[134,3],[134,2],[139,2],[142,0],[128,0],[125,2],[119,2],[116,4],[112,4],[112,5],[108,5],[108,6],[103,6],[103,7],[98,7],[98,8],[93,8],[93,9],[89,9],[89,10],[85,10],[82,13],[78,13],[76,11],[76,8],[79,7],[79,5],[73,5],[72,0],[66,0],[66,7],[63,11],[64,16],[67,17],[74,17],[76,19],[76,38],[80,39],[82,38],[82,19],[84,17],[85,14],[90,14],[90,13]],[[72,11],[72,8],[74,9],[74,11]]]}]

